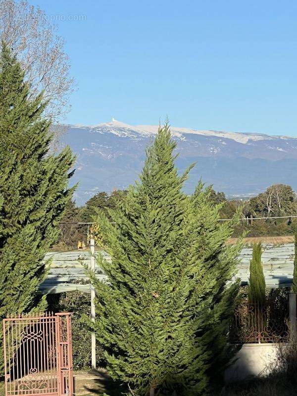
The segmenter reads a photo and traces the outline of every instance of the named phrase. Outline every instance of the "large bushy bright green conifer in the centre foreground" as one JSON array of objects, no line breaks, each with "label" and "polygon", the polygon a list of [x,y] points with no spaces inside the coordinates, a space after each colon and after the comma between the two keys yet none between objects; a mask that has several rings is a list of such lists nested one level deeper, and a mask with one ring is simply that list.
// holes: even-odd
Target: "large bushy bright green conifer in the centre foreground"
[{"label": "large bushy bright green conifer in the centre foreground", "polygon": [[206,395],[238,290],[226,288],[239,249],[225,245],[231,226],[201,185],[183,194],[189,170],[178,175],[175,147],[159,128],[140,182],[109,210],[116,225],[97,219],[112,262],[99,262],[108,284],[92,279],[94,329],[110,375],[138,396]]}]

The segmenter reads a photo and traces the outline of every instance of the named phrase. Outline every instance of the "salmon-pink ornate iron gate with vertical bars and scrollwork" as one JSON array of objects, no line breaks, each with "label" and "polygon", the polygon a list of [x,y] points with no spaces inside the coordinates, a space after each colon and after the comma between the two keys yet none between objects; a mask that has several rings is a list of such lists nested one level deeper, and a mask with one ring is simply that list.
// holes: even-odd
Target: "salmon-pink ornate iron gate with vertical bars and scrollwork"
[{"label": "salmon-pink ornate iron gate with vertical bars and scrollwork", "polygon": [[73,395],[71,313],[3,320],[5,396]]}]

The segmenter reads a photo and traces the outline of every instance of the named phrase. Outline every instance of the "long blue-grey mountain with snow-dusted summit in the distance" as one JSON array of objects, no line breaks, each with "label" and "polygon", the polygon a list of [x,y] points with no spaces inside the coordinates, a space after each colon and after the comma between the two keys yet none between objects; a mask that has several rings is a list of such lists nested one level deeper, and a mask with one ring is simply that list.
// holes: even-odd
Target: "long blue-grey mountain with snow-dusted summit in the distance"
[{"label": "long blue-grey mountain with snow-dusted summit in the distance", "polygon": [[[77,204],[98,191],[111,192],[134,183],[157,129],[114,119],[95,126],[69,125],[64,143],[77,154],[72,178],[72,183],[80,182]],[[200,178],[228,196],[255,195],[275,183],[297,190],[297,138],[177,127],[171,131],[180,171],[196,162],[185,184],[186,193],[194,191]]]}]

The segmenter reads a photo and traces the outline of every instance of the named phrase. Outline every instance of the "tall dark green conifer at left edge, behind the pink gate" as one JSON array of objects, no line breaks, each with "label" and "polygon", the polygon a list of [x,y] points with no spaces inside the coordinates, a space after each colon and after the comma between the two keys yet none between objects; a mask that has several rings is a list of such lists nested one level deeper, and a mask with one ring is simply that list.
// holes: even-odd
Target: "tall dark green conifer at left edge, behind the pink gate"
[{"label": "tall dark green conifer at left edge, behind the pink gate", "polygon": [[[10,49],[0,53],[0,319],[32,310],[46,274],[42,262],[57,240],[74,157],[69,148],[49,155],[43,95],[30,99],[24,72]],[[1,327],[0,327],[1,329]],[[0,372],[3,343],[0,330]]]}]

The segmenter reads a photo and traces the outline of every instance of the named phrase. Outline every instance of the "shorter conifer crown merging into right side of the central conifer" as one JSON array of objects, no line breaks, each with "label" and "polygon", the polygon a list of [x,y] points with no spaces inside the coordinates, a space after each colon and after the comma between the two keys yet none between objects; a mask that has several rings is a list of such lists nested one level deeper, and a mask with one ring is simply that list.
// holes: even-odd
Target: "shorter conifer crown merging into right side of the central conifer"
[{"label": "shorter conifer crown merging into right side of the central conifer", "polygon": [[[233,280],[243,245],[242,238],[234,245],[226,244],[226,241],[233,235],[241,208],[237,209],[232,221],[218,221],[224,202],[215,204],[211,199],[211,188],[203,190],[201,182],[192,197],[192,204],[185,254],[197,271],[191,305],[196,313],[195,346],[198,353],[189,364],[185,378],[188,383],[192,381],[194,395],[204,396],[209,390],[213,394],[211,388],[219,386],[221,389],[225,367],[235,353],[234,347],[228,343],[228,332],[240,288],[239,280]],[[198,385],[197,378],[201,382]]]}]

